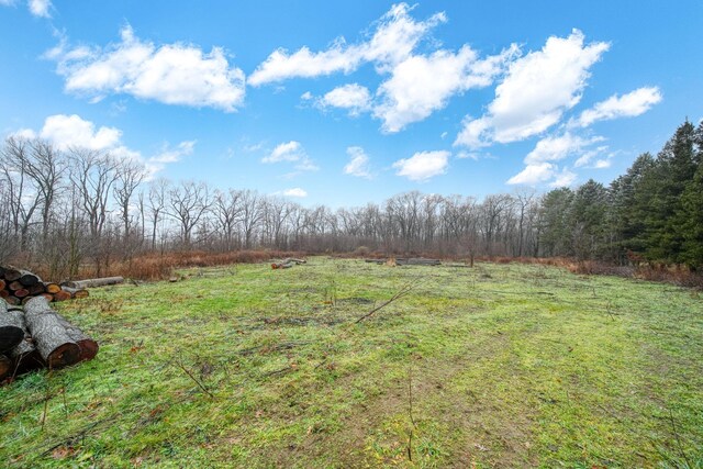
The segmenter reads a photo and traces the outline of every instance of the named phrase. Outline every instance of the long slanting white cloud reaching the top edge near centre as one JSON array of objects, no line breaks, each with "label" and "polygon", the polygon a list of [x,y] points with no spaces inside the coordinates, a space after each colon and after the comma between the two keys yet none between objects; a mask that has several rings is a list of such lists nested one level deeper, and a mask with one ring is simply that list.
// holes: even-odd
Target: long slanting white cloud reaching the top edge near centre
[{"label": "long slanting white cloud reaching the top edge near centre", "polygon": [[337,38],[327,49],[311,52],[301,47],[292,54],[279,48],[271,53],[249,76],[252,86],[282,81],[290,78],[313,78],[343,71],[349,74],[364,63],[376,63],[378,70],[387,70],[408,57],[417,43],[437,24],[445,22],[444,13],[426,21],[414,21],[406,3],[393,5],[377,23],[376,32],[366,42],[347,45]]}]

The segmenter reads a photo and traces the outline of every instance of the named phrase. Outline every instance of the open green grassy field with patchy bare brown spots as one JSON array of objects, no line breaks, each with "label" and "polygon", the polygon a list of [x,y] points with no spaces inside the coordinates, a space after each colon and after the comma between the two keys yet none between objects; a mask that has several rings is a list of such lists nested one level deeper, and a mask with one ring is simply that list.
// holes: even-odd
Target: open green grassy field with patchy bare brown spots
[{"label": "open green grassy field with patchy bare brown spots", "polygon": [[703,465],[696,292],[322,257],[181,273],[58,306],[100,354],[0,388],[0,466]]}]

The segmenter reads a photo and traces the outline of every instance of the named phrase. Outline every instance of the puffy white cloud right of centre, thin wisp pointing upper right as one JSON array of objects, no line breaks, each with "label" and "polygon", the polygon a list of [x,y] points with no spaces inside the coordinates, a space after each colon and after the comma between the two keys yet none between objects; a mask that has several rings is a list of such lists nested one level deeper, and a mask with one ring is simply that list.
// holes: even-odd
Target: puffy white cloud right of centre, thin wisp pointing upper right
[{"label": "puffy white cloud right of centre, thin wisp pointing upper right", "polygon": [[491,85],[517,53],[517,46],[512,45],[500,55],[479,59],[465,45],[456,54],[440,49],[428,56],[410,56],[381,83],[381,102],[373,115],[383,121],[384,132],[399,132],[445,108],[454,94]]}]

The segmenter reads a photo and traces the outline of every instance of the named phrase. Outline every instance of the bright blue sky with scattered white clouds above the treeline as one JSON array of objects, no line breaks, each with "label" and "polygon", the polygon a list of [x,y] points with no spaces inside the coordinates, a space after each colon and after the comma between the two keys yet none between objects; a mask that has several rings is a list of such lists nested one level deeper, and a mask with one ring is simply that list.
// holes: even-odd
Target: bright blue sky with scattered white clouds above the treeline
[{"label": "bright blue sky with scattered white clouds above the treeline", "polygon": [[0,132],[305,205],[610,182],[703,116],[700,1],[0,0]]}]

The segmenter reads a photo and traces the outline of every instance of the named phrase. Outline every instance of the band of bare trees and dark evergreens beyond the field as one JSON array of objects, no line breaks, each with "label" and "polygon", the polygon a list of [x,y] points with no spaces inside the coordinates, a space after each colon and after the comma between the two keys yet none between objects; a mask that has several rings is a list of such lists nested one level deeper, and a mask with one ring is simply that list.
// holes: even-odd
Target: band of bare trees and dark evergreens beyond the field
[{"label": "band of bare trees and dark evergreens beyond the field", "polygon": [[[252,190],[148,180],[137,161],[9,137],[0,160],[0,261],[52,278],[96,275],[154,253],[271,248],[446,256],[566,256],[703,266],[703,124],[684,122],[609,187],[546,194],[394,196],[381,204],[303,208]],[[470,191],[467,181],[467,192]]]}]

